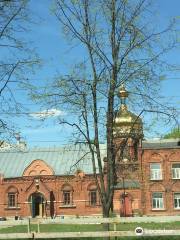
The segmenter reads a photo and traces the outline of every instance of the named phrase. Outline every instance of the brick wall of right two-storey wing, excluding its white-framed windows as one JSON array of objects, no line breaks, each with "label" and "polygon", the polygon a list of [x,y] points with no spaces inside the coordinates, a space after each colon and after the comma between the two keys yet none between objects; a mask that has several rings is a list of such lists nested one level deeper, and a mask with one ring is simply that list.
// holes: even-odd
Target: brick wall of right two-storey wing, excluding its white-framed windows
[{"label": "brick wall of right two-storey wing, excluding its white-framed windows", "polygon": [[[180,192],[180,179],[172,179],[172,163],[180,163],[179,149],[151,149],[144,150],[142,155],[143,184],[143,212],[146,215],[176,215],[180,210],[174,209],[174,193]],[[150,163],[161,163],[162,180],[150,180]],[[152,193],[162,192],[164,199],[163,210],[152,209]]]}]

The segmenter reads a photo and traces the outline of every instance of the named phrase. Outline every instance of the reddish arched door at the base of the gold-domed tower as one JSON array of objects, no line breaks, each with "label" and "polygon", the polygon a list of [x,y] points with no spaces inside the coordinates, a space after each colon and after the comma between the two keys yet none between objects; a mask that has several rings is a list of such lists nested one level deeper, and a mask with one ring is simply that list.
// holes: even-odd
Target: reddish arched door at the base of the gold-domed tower
[{"label": "reddish arched door at the base of the gold-domed tower", "polygon": [[120,198],[121,209],[120,216],[131,217],[132,216],[132,198],[128,193],[123,193]]}]

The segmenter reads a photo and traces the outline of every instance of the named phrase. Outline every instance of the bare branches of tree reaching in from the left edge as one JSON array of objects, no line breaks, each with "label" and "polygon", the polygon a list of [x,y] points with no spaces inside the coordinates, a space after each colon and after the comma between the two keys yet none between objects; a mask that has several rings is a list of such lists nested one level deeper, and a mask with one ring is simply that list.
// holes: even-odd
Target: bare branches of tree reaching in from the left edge
[{"label": "bare branches of tree reaching in from the left edge", "polygon": [[22,101],[15,95],[20,84],[27,80],[25,73],[37,63],[27,46],[25,34],[29,26],[28,0],[0,1],[0,132],[1,138],[12,136],[15,129],[8,115],[20,112]]}]

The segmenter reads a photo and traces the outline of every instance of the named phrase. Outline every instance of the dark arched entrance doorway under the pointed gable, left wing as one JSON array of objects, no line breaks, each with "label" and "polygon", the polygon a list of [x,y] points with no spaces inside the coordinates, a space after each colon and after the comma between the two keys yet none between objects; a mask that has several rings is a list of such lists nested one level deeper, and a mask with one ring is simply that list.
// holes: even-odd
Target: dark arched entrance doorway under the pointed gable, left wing
[{"label": "dark arched entrance doorway under the pointed gable, left wing", "polygon": [[31,215],[35,217],[43,217],[45,215],[46,200],[42,193],[33,193],[30,196]]}]

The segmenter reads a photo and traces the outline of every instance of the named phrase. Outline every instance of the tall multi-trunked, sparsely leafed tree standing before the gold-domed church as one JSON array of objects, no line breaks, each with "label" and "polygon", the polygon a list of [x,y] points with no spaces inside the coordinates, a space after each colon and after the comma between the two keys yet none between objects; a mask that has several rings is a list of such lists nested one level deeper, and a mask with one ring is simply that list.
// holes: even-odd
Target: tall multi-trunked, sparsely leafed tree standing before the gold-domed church
[{"label": "tall multi-trunked, sparsely leafed tree standing before the gold-domed church", "polygon": [[[146,0],[56,0],[55,15],[66,36],[86,50],[84,60],[68,76],[58,76],[36,100],[69,109],[61,124],[72,126],[88,144],[103,216],[108,217],[115,184],[113,124],[118,88],[126,84],[152,111],[170,111],[156,94],[167,64],[163,55],[176,45],[173,23],[158,31]],[[142,107],[142,105],[141,105]],[[141,110],[144,107],[141,108]],[[72,113],[72,114],[70,114]],[[169,113],[169,116],[171,114]],[[106,120],[105,120],[106,119]],[[107,143],[104,174],[101,141]]]}]

